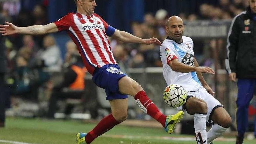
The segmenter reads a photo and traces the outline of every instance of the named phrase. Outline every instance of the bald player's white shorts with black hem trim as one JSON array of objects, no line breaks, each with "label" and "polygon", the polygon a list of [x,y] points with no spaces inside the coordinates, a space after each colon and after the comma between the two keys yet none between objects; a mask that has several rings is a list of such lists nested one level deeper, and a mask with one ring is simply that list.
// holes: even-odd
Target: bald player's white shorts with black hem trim
[{"label": "bald player's white shorts with black hem trim", "polygon": [[[207,103],[208,110],[206,121],[208,123],[213,123],[213,121],[211,120],[211,115],[213,114],[215,109],[217,109],[218,107],[223,107],[222,104],[215,97],[209,94],[207,90],[202,86],[195,92],[187,91],[187,93],[188,97],[195,96],[199,99],[204,100]],[[183,110],[187,113],[186,109],[183,109],[183,106],[179,106],[176,109],[179,111]]]}]

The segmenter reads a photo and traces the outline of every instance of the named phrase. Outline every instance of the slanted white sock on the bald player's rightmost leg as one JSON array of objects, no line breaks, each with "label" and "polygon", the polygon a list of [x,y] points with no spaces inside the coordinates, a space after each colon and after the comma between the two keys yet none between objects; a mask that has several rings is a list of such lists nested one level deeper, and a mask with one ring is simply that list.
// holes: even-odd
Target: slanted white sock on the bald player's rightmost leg
[{"label": "slanted white sock on the bald player's rightmost leg", "polygon": [[215,138],[221,136],[228,128],[214,124],[207,132],[207,144],[211,143]]}]

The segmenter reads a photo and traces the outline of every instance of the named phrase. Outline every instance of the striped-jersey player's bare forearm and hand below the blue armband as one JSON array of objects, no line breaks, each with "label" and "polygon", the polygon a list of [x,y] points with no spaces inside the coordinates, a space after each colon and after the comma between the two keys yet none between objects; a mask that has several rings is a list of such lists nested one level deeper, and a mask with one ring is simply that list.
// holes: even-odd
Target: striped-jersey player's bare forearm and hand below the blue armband
[{"label": "striped-jersey player's bare forearm and hand below the blue armband", "polygon": [[112,37],[122,42],[141,43],[146,45],[156,43],[157,45],[161,45],[161,42],[157,38],[142,39],[130,33],[127,33],[125,31],[119,31],[117,29],[115,29],[115,33],[112,35]]}]

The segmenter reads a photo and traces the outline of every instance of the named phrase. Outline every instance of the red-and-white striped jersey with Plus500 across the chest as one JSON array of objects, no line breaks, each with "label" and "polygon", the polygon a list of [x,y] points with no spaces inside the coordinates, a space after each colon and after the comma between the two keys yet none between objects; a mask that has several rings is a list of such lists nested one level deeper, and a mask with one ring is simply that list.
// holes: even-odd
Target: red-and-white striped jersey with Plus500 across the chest
[{"label": "red-and-white striped jersey with Plus500 across the chest", "polygon": [[106,34],[106,31],[113,27],[99,15],[68,13],[54,23],[59,31],[68,31],[90,74],[93,74],[96,67],[117,64]]}]

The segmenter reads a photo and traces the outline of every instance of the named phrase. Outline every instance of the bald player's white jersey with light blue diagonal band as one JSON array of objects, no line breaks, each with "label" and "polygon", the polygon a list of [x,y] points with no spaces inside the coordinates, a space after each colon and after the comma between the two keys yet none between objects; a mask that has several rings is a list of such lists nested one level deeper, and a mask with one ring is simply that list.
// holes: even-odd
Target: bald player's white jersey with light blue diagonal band
[{"label": "bald player's white jersey with light blue diagonal band", "polygon": [[179,62],[185,65],[194,66],[193,40],[186,36],[182,36],[182,39],[182,43],[176,43],[169,37],[163,41],[160,47],[160,56],[163,63],[163,77],[167,85],[179,84],[187,91],[196,91],[202,86],[196,72],[175,72],[168,65],[171,60],[178,59]]}]

